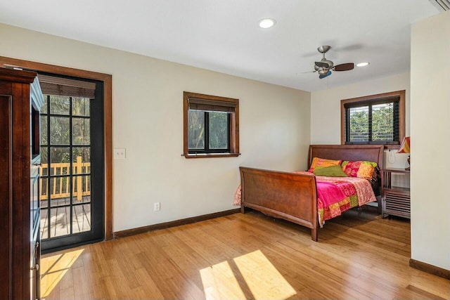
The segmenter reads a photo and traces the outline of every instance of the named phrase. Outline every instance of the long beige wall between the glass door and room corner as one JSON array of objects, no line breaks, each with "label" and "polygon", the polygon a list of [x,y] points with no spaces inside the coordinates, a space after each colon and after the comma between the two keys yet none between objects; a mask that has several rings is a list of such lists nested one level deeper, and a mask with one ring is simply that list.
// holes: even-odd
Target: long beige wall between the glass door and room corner
[{"label": "long beige wall between the glass door and room corner", "polygon": [[[310,93],[0,25],[0,55],[113,75],[113,230],[233,209],[239,166],[306,169]],[[240,157],[185,159],[183,91],[240,100]],[[153,203],[161,202],[161,211]]]}]

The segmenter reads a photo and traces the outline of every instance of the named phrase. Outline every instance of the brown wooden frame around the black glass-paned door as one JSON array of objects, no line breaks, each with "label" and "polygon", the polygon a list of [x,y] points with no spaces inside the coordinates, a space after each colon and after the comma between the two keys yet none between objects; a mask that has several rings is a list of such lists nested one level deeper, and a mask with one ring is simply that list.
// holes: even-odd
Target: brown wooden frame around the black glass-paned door
[{"label": "brown wooden frame around the black glass-paned door", "polygon": [[105,157],[105,240],[113,240],[113,77],[110,74],[91,72],[71,67],[60,67],[28,60],[0,56],[0,67],[13,66],[63,76],[81,77],[103,81],[104,157]]}]

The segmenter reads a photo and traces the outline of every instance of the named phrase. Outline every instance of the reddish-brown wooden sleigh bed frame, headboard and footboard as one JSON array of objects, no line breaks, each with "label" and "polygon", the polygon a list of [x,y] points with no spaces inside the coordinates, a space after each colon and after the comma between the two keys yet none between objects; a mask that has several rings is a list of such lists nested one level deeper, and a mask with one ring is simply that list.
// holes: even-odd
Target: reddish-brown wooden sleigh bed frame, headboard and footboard
[{"label": "reddish-brown wooden sleigh bed frame, headboard and footboard", "polygon": [[[366,160],[383,169],[383,145],[310,145],[308,167],[313,157]],[[311,228],[311,239],[318,240],[316,178],[314,174],[295,174],[240,167],[241,207]]]}]

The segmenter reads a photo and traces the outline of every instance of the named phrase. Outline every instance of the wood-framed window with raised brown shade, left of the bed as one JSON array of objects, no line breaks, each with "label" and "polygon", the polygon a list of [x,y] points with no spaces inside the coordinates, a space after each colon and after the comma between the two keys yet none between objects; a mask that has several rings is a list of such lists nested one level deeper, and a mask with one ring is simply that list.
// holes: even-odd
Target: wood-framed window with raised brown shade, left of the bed
[{"label": "wood-framed window with raised brown shade, left of the bed", "polygon": [[239,155],[239,100],[184,92],[184,157]]}]

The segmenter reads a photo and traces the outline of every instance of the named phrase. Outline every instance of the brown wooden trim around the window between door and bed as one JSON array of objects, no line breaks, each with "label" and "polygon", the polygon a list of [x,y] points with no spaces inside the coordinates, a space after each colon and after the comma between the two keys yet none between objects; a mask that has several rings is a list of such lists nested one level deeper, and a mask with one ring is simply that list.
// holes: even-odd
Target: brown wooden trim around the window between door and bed
[{"label": "brown wooden trim around the window between door and bed", "polygon": [[[234,112],[229,116],[229,153],[189,153],[188,150],[188,110],[189,110],[189,98],[198,98],[205,100],[214,100],[219,102],[235,103],[236,107]],[[201,93],[191,93],[188,91],[183,92],[183,154],[186,158],[206,158],[206,157],[237,157],[239,153],[239,99],[226,98],[219,96],[205,95]]]}]

